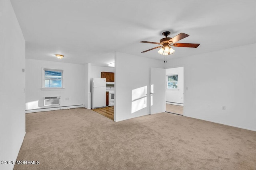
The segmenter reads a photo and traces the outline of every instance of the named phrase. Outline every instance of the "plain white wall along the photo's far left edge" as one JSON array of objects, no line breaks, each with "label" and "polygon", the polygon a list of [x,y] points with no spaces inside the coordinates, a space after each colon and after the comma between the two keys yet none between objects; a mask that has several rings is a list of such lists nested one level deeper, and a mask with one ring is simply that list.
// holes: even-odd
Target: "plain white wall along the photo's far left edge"
[{"label": "plain white wall along the photo's far left edge", "polygon": [[[0,0],[0,160],[15,161],[25,136],[25,40],[9,0]],[[14,164],[0,164],[12,170]]]}]

